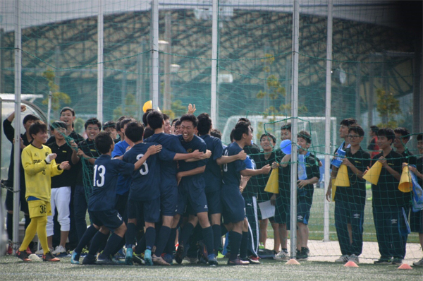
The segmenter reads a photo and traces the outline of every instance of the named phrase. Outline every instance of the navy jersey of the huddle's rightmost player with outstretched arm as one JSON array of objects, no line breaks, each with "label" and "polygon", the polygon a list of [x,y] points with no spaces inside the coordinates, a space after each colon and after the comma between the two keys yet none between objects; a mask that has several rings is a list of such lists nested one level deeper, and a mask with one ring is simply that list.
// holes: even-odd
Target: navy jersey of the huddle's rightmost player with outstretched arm
[{"label": "navy jersey of the huddle's rightmost player with outstretched arm", "polygon": [[[240,148],[238,143],[231,143],[228,145],[223,155],[232,156],[237,155],[240,151],[243,150]],[[223,187],[231,186],[231,188],[240,189],[240,172],[244,169],[247,169],[245,162],[243,160],[236,160],[231,163],[223,165]]]}]

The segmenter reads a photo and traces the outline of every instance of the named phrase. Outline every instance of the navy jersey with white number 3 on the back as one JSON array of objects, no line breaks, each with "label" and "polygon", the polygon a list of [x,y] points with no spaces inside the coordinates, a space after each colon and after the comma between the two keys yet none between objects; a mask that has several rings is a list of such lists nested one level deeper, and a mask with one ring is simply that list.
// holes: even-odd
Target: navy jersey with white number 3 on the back
[{"label": "navy jersey with white number 3 on the back", "polygon": [[[147,149],[157,143],[138,143],[123,155],[123,161],[135,163],[147,153]],[[160,196],[160,160],[172,160],[175,153],[162,148],[160,153],[150,155],[140,169],[133,171],[129,189],[130,200],[147,201]]]}]

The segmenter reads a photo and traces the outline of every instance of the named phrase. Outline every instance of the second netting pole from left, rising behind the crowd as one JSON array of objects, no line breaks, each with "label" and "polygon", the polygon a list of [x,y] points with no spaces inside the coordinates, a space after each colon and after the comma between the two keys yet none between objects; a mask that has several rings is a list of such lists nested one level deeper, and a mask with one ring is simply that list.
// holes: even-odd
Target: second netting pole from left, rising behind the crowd
[{"label": "second netting pole from left, rising behind the crowd", "polygon": [[103,123],[103,13],[103,0],[99,0],[99,16],[97,20],[97,119],[101,123]]}]

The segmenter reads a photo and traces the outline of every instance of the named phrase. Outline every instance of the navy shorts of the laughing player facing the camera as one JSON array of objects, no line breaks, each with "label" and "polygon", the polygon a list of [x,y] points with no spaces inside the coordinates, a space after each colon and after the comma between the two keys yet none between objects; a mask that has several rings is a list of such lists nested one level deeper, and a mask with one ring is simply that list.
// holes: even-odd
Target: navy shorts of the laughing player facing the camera
[{"label": "navy shorts of the laughing player facing the camera", "polygon": [[190,215],[208,212],[206,193],[204,193],[204,178],[186,177],[182,178],[178,186],[178,208],[176,213],[183,215],[187,203],[191,205]]}]

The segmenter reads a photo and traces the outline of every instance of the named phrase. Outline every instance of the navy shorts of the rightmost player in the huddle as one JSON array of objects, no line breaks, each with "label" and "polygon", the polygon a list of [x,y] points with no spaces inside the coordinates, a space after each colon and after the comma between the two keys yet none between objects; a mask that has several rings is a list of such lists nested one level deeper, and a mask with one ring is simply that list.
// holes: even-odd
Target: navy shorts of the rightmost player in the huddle
[{"label": "navy shorts of the rightmost player in the huddle", "polygon": [[222,186],[221,201],[223,207],[223,221],[241,222],[245,218],[245,201],[238,188],[233,186]]}]

